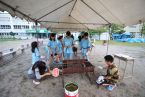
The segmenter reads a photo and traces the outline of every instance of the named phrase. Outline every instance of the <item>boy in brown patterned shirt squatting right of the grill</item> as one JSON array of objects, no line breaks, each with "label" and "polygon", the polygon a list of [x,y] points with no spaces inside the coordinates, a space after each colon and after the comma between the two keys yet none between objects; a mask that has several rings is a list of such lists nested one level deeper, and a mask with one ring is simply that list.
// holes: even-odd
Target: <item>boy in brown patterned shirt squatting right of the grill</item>
[{"label": "boy in brown patterned shirt squatting right of the grill", "polygon": [[[108,85],[114,85],[116,86],[116,83],[119,79],[119,75],[118,75],[118,68],[117,66],[114,64],[114,58],[111,56],[111,55],[106,55],[104,57],[105,59],[105,63],[106,63],[106,67],[103,67],[103,68],[106,68],[107,69],[107,74],[105,76],[101,76],[102,78],[102,82],[99,83],[99,78],[97,80],[97,84],[98,85],[101,85],[101,84],[108,84]],[[113,88],[113,87],[112,87]]]}]

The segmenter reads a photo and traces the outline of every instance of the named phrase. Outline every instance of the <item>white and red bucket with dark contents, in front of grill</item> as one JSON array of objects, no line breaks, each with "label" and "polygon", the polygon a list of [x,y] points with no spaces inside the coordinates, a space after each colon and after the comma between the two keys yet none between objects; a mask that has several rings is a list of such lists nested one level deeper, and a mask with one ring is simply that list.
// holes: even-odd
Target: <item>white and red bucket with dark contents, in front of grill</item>
[{"label": "white and red bucket with dark contents, in front of grill", "polygon": [[67,83],[65,85],[65,97],[79,97],[78,85],[76,83]]}]

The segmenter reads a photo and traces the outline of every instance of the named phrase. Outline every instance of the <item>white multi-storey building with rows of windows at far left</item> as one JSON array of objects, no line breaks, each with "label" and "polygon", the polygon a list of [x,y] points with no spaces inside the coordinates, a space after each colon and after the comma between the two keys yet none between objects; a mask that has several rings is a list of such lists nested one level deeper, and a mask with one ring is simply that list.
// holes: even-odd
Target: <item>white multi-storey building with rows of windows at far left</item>
[{"label": "white multi-storey building with rows of windows at far left", "polygon": [[[8,12],[0,12],[0,37],[10,38],[11,32],[15,33],[15,36],[26,36],[26,30],[33,29],[35,24],[28,22],[25,19],[18,17],[12,17]],[[28,35],[27,35],[28,36]]]}]

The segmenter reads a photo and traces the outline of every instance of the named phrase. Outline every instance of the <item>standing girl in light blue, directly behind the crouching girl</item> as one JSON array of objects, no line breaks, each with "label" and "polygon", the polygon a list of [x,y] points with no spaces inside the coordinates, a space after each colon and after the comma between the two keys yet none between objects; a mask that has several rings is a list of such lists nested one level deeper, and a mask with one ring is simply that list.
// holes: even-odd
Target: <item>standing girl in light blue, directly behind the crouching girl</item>
[{"label": "standing girl in light blue, directly behind the crouching girl", "polygon": [[31,51],[32,51],[32,65],[40,60],[40,52],[38,49],[38,43],[36,41],[31,43]]}]

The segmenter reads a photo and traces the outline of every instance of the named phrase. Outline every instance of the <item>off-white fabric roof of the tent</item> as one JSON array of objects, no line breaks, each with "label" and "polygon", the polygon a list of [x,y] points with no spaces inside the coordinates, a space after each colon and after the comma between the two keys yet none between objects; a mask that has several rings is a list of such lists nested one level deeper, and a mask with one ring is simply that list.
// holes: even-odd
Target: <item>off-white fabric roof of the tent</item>
[{"label": "off-white fabric roof of the tent", "polygon": [[52,30],[87,30],[145,21],[145,0],[0,0],[0,10]]}]

